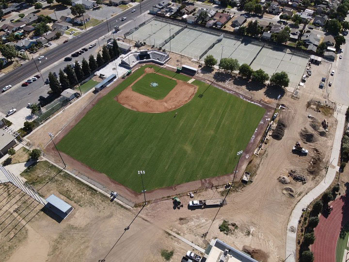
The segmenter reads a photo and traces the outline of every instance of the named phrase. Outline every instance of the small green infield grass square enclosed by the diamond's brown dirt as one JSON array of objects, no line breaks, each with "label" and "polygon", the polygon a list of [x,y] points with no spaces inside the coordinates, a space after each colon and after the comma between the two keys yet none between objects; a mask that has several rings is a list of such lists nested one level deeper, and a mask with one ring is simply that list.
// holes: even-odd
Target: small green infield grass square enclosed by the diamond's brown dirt
[{"label": "small green infield grass square enclosed by the diamond's brown dirt", "polygon": [[[150,86],[152,82],[158,83],[158,86]],[[156,74],[146,74],[143,78],[134,83],[132,90],[158,100],[165,98],[176,84],[177,82],[173,79]]]}]

